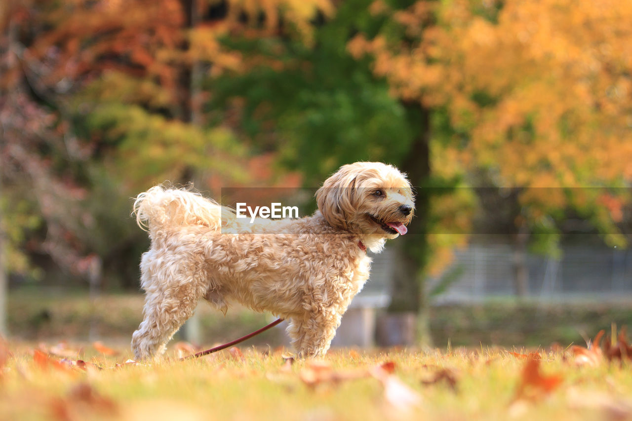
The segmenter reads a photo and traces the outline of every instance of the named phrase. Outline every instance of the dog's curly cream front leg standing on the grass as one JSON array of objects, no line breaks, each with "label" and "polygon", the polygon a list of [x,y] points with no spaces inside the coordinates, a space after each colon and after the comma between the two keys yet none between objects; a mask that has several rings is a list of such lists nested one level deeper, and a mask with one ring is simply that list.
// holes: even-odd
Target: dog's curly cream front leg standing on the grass
[{"label": "dog's curly cream front leg standing on the grass", "polygon": [[301,358],[322,357],[336,336],[342,314],[331,311],[313,312],[305,317],[293,317],[287,332],[292,346]]}]

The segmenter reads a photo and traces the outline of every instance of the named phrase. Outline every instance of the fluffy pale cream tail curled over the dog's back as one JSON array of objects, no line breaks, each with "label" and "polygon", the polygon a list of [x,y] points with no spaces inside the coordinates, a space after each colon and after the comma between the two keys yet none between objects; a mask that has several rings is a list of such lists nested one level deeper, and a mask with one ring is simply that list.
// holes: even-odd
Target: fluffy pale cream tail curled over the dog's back
[{"label": "fluffy pale cream tail curled over the dog's back", "polygon": [[199,193],[164,186],[155,186],[140,193],[133,207],[138,226],[150,234],[183,225],[221,229],[224,212],[226,210],[217,202]]}]

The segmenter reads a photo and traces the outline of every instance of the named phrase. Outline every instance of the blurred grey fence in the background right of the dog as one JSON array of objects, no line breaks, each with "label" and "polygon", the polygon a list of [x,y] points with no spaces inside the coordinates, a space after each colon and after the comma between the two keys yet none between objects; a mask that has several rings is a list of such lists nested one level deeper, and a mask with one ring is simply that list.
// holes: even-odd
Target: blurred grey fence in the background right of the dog
[{"label": "blurred grey fence in the background right of the dog", "polygon": [[[393,253],[387,248],[373,256],[371,278],[356,300],[388,295]],[[632,250],[567,245],[560,259],[528,253],[526,266],[532,298],[632,298]],[[474,302],[515,293],[511,244],[471,244],[456,250],[446,272],[456,268],[458,276],[434,302]],[[439,282],[429,279],[428,288]]]}]

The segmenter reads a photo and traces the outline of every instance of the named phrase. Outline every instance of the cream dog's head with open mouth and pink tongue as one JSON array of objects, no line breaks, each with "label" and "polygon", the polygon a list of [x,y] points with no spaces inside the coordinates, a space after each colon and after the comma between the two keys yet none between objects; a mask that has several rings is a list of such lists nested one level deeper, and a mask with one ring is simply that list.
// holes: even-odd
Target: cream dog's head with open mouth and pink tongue
[{"label": "cream dog's head with open mouth and pink tongue", "polygon": [[325,180],[316,192],[316,200],[332,227],[365,239],[406,234],[406,225],[415,211],[406,176],[381,162],[343,165]]}]

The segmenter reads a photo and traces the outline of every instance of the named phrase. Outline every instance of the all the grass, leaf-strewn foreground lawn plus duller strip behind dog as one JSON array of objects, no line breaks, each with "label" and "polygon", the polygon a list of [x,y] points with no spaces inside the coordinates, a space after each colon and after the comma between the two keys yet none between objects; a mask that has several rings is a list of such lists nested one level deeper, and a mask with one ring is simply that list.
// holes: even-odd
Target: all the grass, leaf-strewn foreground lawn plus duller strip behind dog
[{"label": "all the grass, leaf-strewn foreground lawn plus duller strip behind dog", "polygon": [[[322,361],[290,363],[274,345],[277,328],[186,362],[177,358],[192,347],[176,338],[165,360],[140,364],[126,363],[140,294],[90,302],[85,293],[13,291],[14,339],[0,345],[0,420],[632,419],[632,347],[626,339],[609,350],[606,338],[603,352],[588,350],[582,339],[611,322],[629,326],[629,308],[441,306],[432,309],[437,348],[332,350]],[[199,311],[208,346],[265,324],[246,310],[225,318],[206,305]],[[89,341],[91,330],[104,343]]]}]

